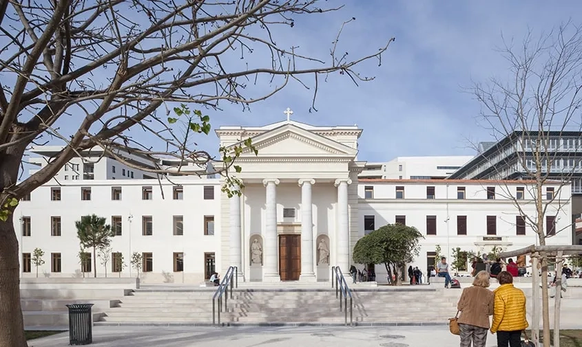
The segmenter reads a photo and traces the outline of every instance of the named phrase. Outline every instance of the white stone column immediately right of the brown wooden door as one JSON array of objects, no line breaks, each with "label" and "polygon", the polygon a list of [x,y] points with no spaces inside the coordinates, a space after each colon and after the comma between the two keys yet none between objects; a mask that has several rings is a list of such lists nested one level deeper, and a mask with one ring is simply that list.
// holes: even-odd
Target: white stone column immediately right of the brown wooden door
[{"label": "white stone column immediately right of the brown wooden door", "polygon": [[300,179],[301,187],[301,275],[300,281],[315,282],[313,270],[313,210],[311,203],[311,185],[315,179]]}]

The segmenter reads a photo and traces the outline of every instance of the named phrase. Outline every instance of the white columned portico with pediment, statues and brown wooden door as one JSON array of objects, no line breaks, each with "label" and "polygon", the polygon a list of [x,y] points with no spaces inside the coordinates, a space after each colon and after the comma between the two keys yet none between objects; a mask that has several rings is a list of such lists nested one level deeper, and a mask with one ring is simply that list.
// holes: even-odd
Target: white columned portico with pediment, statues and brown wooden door
[{"label": "white columned portico with pediment, statues and brown wooden door", "polygon": [[228,253],[223,267],[237,266],[247,282],[325,281],[334,265],[348,271],[351,233],[357,234],[351,228],[357,199],[350,206],[349,197],[357,196],[353,182],[364,165],[356,149],[362,131],[287,120],[216,133],[221,146],[250,137],[258,149],[258,155],[245,150],[238,159],[242,196],[222,203],[228,215],[222,239],[227,234],[229,245],[222,247]]}]

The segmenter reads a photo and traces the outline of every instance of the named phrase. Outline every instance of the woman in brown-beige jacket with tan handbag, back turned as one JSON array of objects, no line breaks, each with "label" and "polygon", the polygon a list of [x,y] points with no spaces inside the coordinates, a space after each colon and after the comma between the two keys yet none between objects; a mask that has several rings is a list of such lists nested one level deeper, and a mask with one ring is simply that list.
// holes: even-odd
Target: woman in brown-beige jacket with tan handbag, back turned
[{"label": "woman in brown-beige jacket with tan handbag, back turned", "polygon": [[472,287],[465,288],[457,309],[461,316],[457,322],[461,329],[461,347],[485,347],[489,316],[493,314],[495,294],[489,287],[489,273],[479,271]]}]

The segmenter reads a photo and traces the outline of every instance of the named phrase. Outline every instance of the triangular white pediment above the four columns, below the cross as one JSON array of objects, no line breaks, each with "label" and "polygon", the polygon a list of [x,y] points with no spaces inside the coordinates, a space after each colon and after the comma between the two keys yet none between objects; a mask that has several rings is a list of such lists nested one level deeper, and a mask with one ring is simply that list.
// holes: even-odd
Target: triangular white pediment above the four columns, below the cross
[{"label": "triangular white pediment above the four columns, below the cross", "polygon": [[[252,138],[259,157],[355,157],[357,150],[312,133],[293,124],[284,124]],[[254,153],[248,148],[242,155]]]}]

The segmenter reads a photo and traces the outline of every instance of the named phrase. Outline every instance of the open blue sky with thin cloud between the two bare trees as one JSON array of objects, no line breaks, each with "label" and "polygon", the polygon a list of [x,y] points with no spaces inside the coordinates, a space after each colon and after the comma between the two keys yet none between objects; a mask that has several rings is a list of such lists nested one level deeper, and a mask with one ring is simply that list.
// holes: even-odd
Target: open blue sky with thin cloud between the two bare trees
[{"label": "open blue sky with thin cloud between the two bare trees", "polygon": [[[333,0],[342,10],[295,17],[293,28],[277,28],[280,47],[329,62],[329,48],[342,23],[338,52],[354,59],[377,52],[391,38],[382,65],[370,60],[357,67],[371,82],[355,86],[347,76],[320,80],[315,107],[309,112],[313,88],[290,82],[275,96],[251,105],[222,104],[222,111],[206,111],[211,125],[262,126],[291,119],[320,126],[353,125],[364,129],[358,159],[388,161],[399,156],[474,155],[472,144],[490,141],[478,122],[480,105],[467,92],[472,81],[506,76],[508,63],[496,51],[506,40],[521,42],[532,30],[541,34],[582,12],[579,1],[431,1]],[[575,19],[574,19],[575,20]],[[231,58],[236,65],[236,56]],[[257,58],[256,61],[262,61]],[[313,78],[306,77],[313,87]],[[267,93],[275,84],[261,82],[253,93]],[[77,125],[78,124],[74,124]],[[63,124],[64,128],[73,126]],[[72,128],[71,128],[72,129]],[[196,138],[203,150],[216,153],[218,137]]]}]

